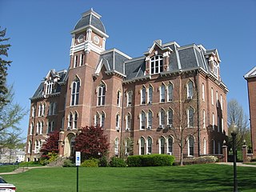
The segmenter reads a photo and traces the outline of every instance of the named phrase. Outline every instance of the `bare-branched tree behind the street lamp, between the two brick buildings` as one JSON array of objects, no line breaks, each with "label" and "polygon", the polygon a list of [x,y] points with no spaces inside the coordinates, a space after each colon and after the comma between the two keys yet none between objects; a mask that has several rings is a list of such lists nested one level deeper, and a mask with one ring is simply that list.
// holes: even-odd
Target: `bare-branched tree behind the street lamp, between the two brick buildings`
[{"label": "bare-branched tree behind the street lamp, between the two brick buildings", "polygon": [[[230,127],[231,122],[234,122],[238,126],[238,134],[236,138],[238,150],[241,150],[244,139],[246,139],[247,145],[250,146],[249,118],[244,113],[242,106],[235,99],[231,99],[227,105],[228,127]],[[230,130],[228,145],[232,146],[232,137],[230,136]]]}]

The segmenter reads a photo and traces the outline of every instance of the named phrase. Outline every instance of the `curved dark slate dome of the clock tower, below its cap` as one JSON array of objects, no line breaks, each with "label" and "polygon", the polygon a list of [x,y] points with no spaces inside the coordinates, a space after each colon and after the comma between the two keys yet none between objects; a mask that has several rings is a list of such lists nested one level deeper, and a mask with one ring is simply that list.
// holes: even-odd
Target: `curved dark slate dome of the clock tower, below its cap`
[{"label": "curved dark slate dome of the clock tower, below its cap", "polygon": [[82,28],[83,26],[88,26],[88,25],[94,26],[98,30],[101,30],[104,34],[106,34],[105,26],[103,25],[102,21],[99,18],[94,16],[94,14],[87,14],[83,16],[78,21],[76,26],[74,26],[74,30],[78,30],[79,28]]}]

